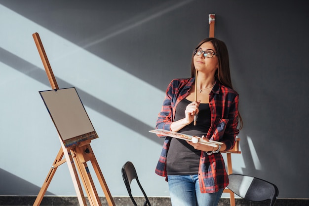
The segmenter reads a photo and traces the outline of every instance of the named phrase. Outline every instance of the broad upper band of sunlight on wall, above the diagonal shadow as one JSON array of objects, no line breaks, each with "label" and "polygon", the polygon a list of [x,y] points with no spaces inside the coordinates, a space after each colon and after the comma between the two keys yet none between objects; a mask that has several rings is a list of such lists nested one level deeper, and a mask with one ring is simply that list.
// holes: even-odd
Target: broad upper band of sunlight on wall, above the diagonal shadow
[{"label": "broad upper band of sunlight on wall, above the diagonal shadow", "polygon": [[2,5],[0,24],[1,48],[44,70],[32,37],[39,33],[56,80],[154,127],[164,92]]}]

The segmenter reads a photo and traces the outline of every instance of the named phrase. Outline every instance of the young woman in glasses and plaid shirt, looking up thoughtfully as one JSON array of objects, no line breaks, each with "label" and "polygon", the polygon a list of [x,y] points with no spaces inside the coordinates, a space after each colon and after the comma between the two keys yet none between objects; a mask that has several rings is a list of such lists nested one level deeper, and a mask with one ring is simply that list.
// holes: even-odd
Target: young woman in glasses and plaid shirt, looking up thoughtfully
[{"label": "young woman in glasses and plaid shirt, looking up thoughtfully", "polygon": [[[195,69],[198,71],[196,85]],[[167,177],[173,206],[217,206],[223,189],[229,184],[220,152],[234,146],[239,133],[238,119],[242,127],[225,43],[216,38],[203,39],[193,51],[191,74],[191,78],[173,79],[169,84],[156,129],[223,144],[214,148],[166,137],[155,172]],[[194,101],[195,86],[197,101]]]}]

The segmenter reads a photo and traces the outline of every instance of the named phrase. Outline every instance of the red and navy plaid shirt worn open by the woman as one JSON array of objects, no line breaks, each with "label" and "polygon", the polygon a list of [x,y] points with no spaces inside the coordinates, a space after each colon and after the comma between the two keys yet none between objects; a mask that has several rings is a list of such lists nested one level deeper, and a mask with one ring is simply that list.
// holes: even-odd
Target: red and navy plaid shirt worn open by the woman
[{"label": "red and navy plaid shirt worn open by the woman", "polygon": [[[186,98],[195,78],[174,79],[169,84],[161,112],[158,114],[155,129],[170,130],[174,121],[177,104]],[[208,139],[224,142],[226,150],[232,149],[235,137],[238,135],[238,94],[218,81],[209,95],[211,111],[211,125],[206,137]],[[162,136],[159,136],[162,137]],[[161,156],[155,169],[160,176],[167,176],[166,155],[170,140],[166,137]],[[228,174],[221,153],[207,155],[202,151],[199,160],[198,179],[202,193],[214,193],[229,184]]]}]

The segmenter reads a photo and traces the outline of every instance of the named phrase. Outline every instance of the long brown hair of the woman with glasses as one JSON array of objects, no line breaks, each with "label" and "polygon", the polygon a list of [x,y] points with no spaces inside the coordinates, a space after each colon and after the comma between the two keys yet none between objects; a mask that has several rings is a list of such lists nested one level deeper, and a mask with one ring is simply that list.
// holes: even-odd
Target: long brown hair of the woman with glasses
[{"label": "long brown hair of the woman with glasses", "polygon": [[[231,73],[230,73],[230,62],[229,62],[229,52],[226,44],[217,39],[217,38],[205,38],[199,42],[199,44],[195,47],[195,49],[199,48],[205,42],[211,42],[215,48],[216,56],[218,57],[218,64],[219,67],[215,73],[215,80],[219,81],[222,85],[226,87],[230,87],[233,89],[232,80],[231,80]],[[195,67],[193,62],[194,52],[192,55],[192,62],[191,62],[191,77],[195,77]],[[238,120],[240,122],[239,130],[242,129],[243,122],[238,112]]]}]

